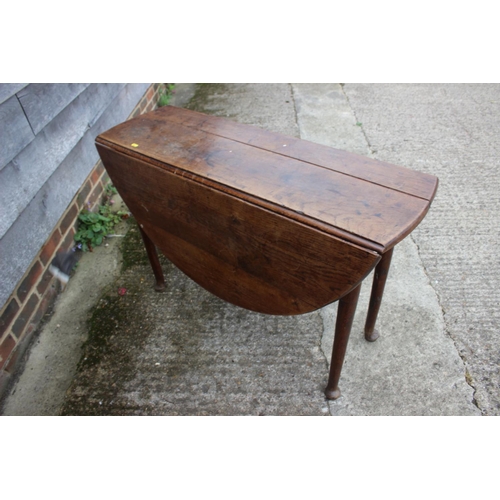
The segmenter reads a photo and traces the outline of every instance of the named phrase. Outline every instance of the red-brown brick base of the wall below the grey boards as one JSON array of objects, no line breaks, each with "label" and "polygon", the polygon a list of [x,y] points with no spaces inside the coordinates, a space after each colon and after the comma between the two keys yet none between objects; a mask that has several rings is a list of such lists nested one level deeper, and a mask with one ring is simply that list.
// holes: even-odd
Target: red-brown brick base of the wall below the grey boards
[{"label": "red-brown brick base of the wall below the grey boards", "polygon": [[[156,108],[162,84],[151,85],[129,118]],[[109,177],[99,160],[59,219],[52,234],[32,261],[0,313],[0,395],[14,373],[40,321],[50,311],[62,288],[49,272],[55,254],[74,246],[77,217],[102,201]]]}]

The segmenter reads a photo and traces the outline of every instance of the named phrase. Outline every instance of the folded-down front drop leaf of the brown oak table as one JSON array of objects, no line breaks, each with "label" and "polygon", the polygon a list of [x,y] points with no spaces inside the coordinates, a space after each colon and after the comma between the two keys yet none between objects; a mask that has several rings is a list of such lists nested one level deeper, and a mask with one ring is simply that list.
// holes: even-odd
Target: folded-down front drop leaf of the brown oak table
[{"label": "folded-down front drop leaf of the brown oak table", "polygon": [[267,314],[302,314],[348,293],[379,255],[141,160],[98,146],[155,245],[218,297]]}]

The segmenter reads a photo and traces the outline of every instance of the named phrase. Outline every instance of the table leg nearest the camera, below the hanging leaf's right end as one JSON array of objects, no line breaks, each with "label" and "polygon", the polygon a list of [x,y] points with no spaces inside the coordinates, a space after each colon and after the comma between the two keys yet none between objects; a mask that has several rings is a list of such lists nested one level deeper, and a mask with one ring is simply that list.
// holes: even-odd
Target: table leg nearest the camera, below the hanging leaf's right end
[{"label": "table leg nearest the camera, below the hanging leaf's right end", "polygon": [[337,399],[340,397],[340,372],[344,364],[345,351],[347,342],[349,341],[349,334],[351,333],[352,321],[354,319],[354,313],[356,312],[360,290],[361,284],[339,300],[332,360],[330,361],[330,376],[328,378],[328,385],[325,389],[325,396],[327,399]]}]

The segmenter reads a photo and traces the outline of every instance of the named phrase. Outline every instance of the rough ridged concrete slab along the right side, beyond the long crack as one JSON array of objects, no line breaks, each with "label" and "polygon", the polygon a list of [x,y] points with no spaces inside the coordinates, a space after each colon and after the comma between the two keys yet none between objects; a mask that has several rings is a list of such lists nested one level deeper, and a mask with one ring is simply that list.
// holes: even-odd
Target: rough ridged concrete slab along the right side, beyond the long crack
[{"label": "rough ridged concrete slab along the right side, beyond the long crack", "polygon": [[500,414],[500,84],[344,91],[374,156],[437,175],[412,236],[485,415]]}]

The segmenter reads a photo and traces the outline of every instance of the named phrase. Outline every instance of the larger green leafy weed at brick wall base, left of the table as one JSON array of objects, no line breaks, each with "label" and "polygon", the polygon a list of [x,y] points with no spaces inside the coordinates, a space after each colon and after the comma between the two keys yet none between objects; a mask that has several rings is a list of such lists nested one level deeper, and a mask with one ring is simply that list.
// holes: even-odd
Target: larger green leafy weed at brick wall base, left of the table
[{"label": "larger green leafy weed at brick wall base, left of the table", "polygon": [[92,251],[122,219],[128,217],[126,212],[112,212],[109,205],[101,205],[97,212],[83,210],[78,216],[78,231],[75,241],[84,252]]}]

